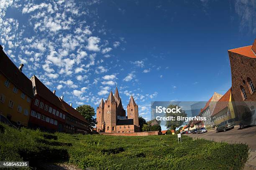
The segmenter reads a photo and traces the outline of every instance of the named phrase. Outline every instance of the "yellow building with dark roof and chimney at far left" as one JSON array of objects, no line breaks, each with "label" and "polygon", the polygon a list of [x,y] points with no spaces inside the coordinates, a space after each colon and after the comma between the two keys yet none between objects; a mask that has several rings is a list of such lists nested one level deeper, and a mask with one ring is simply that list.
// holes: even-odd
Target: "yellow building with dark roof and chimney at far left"
[{"label": "yellow building with dark roof and chimney at far left", "polygon": [[3,52],[0,45],[0,120],[6,118],[15,126],[28,126],[31,100],[33,98],[32,82]]}]

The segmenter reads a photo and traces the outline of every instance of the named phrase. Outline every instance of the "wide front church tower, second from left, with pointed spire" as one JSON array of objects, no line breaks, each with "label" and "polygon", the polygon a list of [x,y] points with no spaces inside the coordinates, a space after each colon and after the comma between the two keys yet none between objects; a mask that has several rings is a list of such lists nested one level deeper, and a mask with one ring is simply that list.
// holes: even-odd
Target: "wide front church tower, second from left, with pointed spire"
[{"label": "wide front church tower, second from left, with pointed spire", "polygon": [[105,121],[105,132],[115,133],[116,132],[116,102],[113,96],[112,90],[108,95],[108,99],[105,101],[104,105],[104,121]]}]

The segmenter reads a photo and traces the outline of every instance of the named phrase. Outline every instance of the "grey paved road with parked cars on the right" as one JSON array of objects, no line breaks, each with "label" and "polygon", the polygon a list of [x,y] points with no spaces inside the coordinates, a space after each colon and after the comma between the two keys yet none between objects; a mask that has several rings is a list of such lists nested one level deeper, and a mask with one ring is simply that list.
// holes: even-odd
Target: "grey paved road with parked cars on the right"
[{"label": "grey paved road with parked cars on the right", "polygon": [[249,159],[244,170],[256,170],[256,126],[228,130],[226,132],[209,131],[202,134],[185,134],[192,138],[204,138],[216,142],[225,141],[227,143],[246,143],[251,149]]}]

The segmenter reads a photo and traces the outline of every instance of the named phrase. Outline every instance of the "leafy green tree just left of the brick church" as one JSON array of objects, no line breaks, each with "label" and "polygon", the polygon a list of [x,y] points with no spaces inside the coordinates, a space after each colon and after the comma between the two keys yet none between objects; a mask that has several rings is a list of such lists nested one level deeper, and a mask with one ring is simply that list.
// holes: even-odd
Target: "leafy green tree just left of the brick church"
[{"label": "leafy green tree just left of the brick church", "polygon": [[95,116],[94,108],[90,105],[81,105],[77,107],[77,111],[81,113],[81,115],[87,120],[89,123],[89,128],[92,130],[93,127],[97,124]]}]

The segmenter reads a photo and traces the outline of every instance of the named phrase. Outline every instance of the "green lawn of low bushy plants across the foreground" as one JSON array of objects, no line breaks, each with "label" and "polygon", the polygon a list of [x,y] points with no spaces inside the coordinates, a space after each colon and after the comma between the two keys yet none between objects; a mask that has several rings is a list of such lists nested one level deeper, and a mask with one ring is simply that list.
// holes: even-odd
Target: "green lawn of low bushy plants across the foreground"
[{"label": "green lawn of low bushy plants across the foreground", "polygon": [[0,133],[0,161],[26,160],[33,166],[47,161],[67,162],[82,169],[240,170],[248,159],[247,145],[192,140],[187,136],[182,136],[182,143],[178,143],[177,135],[47,134],[0,125],[5,127]]}]

